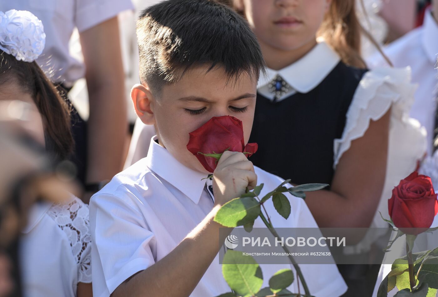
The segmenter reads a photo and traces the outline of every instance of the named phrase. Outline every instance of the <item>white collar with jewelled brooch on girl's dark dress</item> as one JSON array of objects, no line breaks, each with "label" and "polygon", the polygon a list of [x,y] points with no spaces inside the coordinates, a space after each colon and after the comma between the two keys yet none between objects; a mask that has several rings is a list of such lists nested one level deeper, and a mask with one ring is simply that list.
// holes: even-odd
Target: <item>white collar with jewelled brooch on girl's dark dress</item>
[{"label": "white collar with jewelled brooch on girl's dark dress", "polygon": [[258,87],[265,86],[278,74],[296,91],[307,93],[317,87],[340,60],[339,55],[329,45],[319,42],[297,62],[281,70],[268,68],[266,76],[260,77]]}]

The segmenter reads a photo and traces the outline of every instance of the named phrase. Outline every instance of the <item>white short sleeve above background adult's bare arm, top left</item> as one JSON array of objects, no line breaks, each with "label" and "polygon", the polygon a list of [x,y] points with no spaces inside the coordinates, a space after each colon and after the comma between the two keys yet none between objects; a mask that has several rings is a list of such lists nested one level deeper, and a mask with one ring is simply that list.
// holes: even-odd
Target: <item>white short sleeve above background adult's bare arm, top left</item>
[{"label": "white short sleeve above background adult's bare arm, top left", "polygon": [[134,9],[131,0],[76,0],[75,25],[79,32],[92,28],[124,10]]}]

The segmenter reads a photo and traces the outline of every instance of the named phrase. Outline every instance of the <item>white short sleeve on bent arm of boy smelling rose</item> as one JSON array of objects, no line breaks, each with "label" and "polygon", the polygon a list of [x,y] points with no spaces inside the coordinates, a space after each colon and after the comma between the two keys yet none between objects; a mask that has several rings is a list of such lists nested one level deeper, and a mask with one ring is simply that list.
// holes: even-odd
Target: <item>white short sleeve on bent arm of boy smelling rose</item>
[{"label": "white short sleeve on bent arm of boy smelling rose", "polygon": [[93,196],[90,226],[94,296],[109,296],[130,276],[155,263],[155,236],[142,214],[123,199],[104,193]]}]

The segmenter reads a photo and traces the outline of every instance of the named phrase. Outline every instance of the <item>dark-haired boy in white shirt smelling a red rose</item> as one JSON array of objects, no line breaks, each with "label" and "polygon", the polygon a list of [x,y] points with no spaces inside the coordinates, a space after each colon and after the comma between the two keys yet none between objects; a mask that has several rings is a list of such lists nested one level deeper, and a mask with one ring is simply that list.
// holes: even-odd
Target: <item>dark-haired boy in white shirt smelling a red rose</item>
[{"label": "dark-haired boy in white shirt smelling a red rose", "polygon": [[[208,0],[168,0],[149,7],[138,19],[137,36],[141,84],[131,97],[138,117],[154,125],[157,136],[148,157],[91,199],[93,293],[217,296],[230,287],[219,264],[219,242],[225,238],[219,238],[215,214],[247,187],[264,183],[268,191],[283,182],[247,159],[256,150],[247,142],[264,71],[261,50],[242,17]],[[229,150],[206,167],[189,151],[189,133],[222,116],[230,116],[240,130],[218,134],[214,145]],[[235,133],[242,133],[238,148],[228,143]],[[212,180],[206,180],[211,173]],[[272,217],[273,225],[318,227],[302,199],[286,196],[291,214],[287,220]],[[275,213],[272,204],[265,207]],[[254,227],[264,227],[260,218]],[[290,265],[261,268],[273,275]],[[302,265],[301,270],[314,296],[346,291],[336,265]]]}]

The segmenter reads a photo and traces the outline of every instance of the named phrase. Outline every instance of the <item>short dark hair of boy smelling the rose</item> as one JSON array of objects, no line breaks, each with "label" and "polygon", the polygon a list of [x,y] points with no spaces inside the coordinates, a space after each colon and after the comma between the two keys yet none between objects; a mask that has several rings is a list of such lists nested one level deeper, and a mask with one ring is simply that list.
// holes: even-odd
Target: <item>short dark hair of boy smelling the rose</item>
[{"label": "short dark hair of boy smelling the rose", "polygon": [[265,63],[243,17],[214,0],[166,0],[146,8],[137,21],[140,80],[153,91],[191,67],[221,66],[226,79],[247,73],[258,80]]}]

